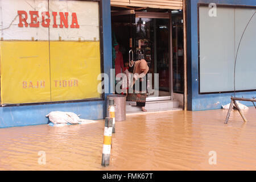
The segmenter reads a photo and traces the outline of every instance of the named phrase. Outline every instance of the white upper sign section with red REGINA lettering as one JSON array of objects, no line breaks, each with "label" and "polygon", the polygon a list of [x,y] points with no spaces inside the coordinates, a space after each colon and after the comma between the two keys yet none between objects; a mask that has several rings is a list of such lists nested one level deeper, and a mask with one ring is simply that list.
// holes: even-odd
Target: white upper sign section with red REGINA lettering
[{"label": "white upper sign section with red REGINA lettering", "polygon": [[3,40],[100,40],[98,2],[0,0],[0,7]]}]

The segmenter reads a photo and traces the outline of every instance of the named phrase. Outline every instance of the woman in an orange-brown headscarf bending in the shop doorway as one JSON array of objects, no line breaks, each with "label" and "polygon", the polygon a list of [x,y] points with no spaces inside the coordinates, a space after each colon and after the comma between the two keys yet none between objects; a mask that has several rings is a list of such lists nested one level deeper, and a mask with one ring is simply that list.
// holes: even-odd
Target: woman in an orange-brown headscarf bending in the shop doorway
[{"label": "woman in an orange-brown headscarf bending in the shop doorway", "polygon": [[[142,111],[146,112],[146,97],[147,97],[147,72],[148,65],[147,61],[144,59],[138,61],[131,61],[131,67],[129,67],[129,72],[133,73],[133,82],[129,84],[133,86],[133,93],[128,93],[126,101],[135,101],[137,106],[141,106]],[[146,82],[146,84],[143,84]],[[139,88],[137,88],[139,85]]]}]

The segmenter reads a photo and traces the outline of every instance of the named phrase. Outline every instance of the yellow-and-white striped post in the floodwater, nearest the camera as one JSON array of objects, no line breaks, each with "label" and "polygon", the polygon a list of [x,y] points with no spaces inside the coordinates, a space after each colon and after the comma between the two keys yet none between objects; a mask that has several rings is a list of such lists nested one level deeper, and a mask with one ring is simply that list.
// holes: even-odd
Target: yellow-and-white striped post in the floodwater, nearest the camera
[{"label": "yellow-and-white striped post in the floodwater, nearest the camera", "polygon": [[102,151],[102,160],[101,160],[102,166],[109,165],[111,143],[112,143],[112,126],[113,126],[113,119],[105,118],[103,151]]}]

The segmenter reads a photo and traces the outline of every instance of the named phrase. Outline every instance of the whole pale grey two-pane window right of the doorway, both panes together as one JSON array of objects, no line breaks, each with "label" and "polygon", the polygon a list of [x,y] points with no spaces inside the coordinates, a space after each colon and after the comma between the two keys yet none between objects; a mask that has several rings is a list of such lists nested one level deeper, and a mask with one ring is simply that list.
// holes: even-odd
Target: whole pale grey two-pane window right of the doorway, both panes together
[{"label": "whole pale grey two-pane window right of the doorway, both panes together", "polygon": [[[234,63],[243,30],[256,9],[199,7],[200,92],[234,90]],[[236,65],[236,90],[256,89],[256,16],[243,36]]]}]

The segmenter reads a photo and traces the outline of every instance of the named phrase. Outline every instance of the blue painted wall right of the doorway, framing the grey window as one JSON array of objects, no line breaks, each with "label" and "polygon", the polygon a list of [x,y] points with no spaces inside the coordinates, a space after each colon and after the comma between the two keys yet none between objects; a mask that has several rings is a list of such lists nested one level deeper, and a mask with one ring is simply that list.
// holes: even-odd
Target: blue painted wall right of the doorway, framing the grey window
[{"label": "blue painted wall right of the doorway, framing the grey window", "polygon": [[[187,0],[187,41],[188,41],[188,109],[209,110],[220,109],[221,105],[230,103],[230,96],[234,93],[199,94],[199,47],[197,36],[197,5],[198,3],[216,3],[217,5],[255,6],[255,0]],[[236,97],[251,98],[256,92],[236,93]],[[219,103],[219,104],[218,104]],[[252,106],[251,102],[241,102]]]}]

